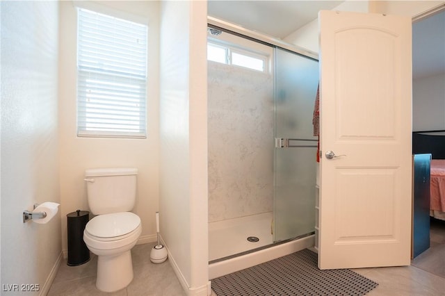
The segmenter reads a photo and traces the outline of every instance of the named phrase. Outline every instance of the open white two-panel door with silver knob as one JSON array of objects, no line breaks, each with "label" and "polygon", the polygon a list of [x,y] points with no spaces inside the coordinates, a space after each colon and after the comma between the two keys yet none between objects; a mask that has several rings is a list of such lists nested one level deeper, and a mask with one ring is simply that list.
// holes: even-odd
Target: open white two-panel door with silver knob
[{"label": "open white two-panel door with silver knob", "polygon": [[411,19],[321,11],[319,22],[318,267],[410,265]]}]

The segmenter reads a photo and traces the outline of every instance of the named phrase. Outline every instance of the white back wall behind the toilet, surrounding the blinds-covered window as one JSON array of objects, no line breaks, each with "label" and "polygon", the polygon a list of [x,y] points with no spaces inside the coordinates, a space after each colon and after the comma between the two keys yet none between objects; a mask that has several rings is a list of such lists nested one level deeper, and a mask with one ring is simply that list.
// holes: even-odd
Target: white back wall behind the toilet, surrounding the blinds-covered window
[{"label": "white back wall behind the toilet, surrounding the blinds-covered window", "polygon": [[159,210],[159,2],[88,1],[88,4],[118,17],[136,16],[148,22],[147,139],[76,136],[76,8],[72,1],[60,1],[59,138],[64,251],[67,249],[66,214],[77,209],[88,210],[83,181],[83,174],[88,168],[138,168],[137,199],[133,212],[142,221],[139,243],[156,240],[154,213]]}]

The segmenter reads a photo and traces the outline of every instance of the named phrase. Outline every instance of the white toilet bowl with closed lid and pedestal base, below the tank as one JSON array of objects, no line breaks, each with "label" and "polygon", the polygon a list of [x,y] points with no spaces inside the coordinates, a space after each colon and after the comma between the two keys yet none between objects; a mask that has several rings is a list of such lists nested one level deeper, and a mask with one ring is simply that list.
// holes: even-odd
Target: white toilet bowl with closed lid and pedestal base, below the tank
[{"label": "white toilet bowl with closed lid and pedestal base, below the tank", "polygon": [[115,292],[133,280],[131,248],[141,231],[140,218],[131,212],[98,215],[86,224],[83,240],[97,255],[99,290]]}]

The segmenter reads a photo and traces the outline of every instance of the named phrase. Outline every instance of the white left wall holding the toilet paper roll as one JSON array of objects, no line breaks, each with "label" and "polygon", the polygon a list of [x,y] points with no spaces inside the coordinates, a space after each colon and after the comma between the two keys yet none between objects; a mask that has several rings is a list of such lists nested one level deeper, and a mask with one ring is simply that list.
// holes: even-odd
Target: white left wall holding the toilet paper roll
[{"label": "white left wall holding the toilet paper roll", "polygon": [[1,1],[1,45],[1,283],[44,295],[61,258],[60,215],[23,223],[22,212],[60,202],[58,2]]}]

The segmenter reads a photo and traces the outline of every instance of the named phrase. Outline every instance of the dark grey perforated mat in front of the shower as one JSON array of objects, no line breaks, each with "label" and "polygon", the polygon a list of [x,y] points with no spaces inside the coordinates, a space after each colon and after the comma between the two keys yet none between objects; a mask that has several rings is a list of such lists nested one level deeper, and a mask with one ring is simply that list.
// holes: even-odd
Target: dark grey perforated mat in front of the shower
[{"label": "dark grey perforated mat in front of the shower", "polygon": [[218,296],[365,295],[376,286],[352,270],[319,270],[309,249],[211,281]]}]

